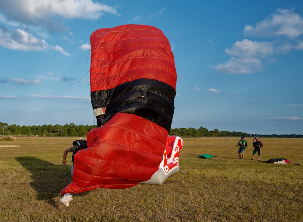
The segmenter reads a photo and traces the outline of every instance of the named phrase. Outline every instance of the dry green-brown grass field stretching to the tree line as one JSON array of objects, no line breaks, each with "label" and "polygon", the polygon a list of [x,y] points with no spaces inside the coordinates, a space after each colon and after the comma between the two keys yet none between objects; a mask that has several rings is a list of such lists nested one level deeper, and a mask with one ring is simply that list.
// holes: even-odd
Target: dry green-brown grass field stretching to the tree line
[{"label": "dry green-brown grass field stretching to the tree line", "polygon": [[260,138],[258,162],[250,160],[253,138],[245,138],[244,159],[239,138],[185,138],[180,171],[163,184],[99,188],[65,207],[59,193],[72,163],[62,165],[62,156],[75,139],[0,141],[0,221],[303,221],[303,139]]}]

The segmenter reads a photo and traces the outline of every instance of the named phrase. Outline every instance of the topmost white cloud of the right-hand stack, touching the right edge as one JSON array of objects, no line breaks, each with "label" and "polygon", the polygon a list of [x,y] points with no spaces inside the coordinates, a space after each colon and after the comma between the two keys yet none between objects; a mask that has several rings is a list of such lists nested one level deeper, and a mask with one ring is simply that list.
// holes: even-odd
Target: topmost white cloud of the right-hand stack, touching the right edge
[{"label": "topmost white cloud of the right-hand stack, touching the right edge", "polygon": [[287,36],[297,38],[303,34],[303,19],[293,10],[277,9],[275,14],[255,25],[246,25],[244,35],[255,37]]}]

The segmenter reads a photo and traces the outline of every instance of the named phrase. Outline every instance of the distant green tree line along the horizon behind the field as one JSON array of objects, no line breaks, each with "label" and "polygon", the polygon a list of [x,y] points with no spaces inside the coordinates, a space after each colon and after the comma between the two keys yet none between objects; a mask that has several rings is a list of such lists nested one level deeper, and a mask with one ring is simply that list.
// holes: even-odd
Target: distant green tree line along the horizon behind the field
[{"label": "distant green tree line along the horizon behind the field", "polygon": [[[0,135],[9,136],[86,136],[88,131],[97,127],[96,125],[75,125],[74,123],[65,124],[63,126],[56,124],[43,125],[43,126],[19,126],[16,124],[8,125],[7,123],[0,122]],[[245,133],[245,132],[229,132],[229,131],[219,131],[218,129],[210,130],[200,126],[199,129],[195,128],[175,128],[170,129],[168,135],[176,135],[180,137],[255,137],[257,133]],[[264,135],[258,134],[260,137],[291,137],[291,138],[302,138],[303,135],[296,134],[271,134]]]}]

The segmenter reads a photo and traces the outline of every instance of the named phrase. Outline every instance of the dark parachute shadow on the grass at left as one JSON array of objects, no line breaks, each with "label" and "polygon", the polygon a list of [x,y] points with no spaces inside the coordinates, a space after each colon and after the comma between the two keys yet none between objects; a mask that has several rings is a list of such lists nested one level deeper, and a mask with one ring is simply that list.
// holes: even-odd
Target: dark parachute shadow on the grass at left
[{"label": "dark parachute shadow on the grass at left", "polygon": [[71,166],[55,165],[30,156],[15,159],[31,172],[33,181],[29,184],[38,192],[37,200],[46,200],[58,206],[53,198],[58,197],[61,190],[71,182]]}]

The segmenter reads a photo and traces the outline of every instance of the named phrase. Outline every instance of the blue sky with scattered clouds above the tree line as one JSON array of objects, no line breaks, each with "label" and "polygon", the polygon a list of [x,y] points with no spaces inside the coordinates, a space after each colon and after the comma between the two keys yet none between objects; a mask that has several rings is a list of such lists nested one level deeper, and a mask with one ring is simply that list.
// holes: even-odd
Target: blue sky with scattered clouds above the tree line
[{"label": "blue sky with scattered clouds above the tree line", "polygon": [[122,24],[155,26],[171,44],[172,128],[303,134],[297,0],[0,0],[0,122],[96,124],[90,35]]}]

